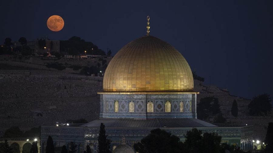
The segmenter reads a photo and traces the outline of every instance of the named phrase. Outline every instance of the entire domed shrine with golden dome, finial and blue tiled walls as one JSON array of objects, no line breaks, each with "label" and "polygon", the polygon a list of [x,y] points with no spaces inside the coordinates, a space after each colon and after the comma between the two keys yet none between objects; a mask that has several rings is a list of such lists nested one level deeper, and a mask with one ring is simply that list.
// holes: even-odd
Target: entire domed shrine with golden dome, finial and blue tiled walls
[{"label": "entire domed shrine with golden dome, finial and blue tiled walls", "polygon": [[[169,43],[147,34],[123,46],[103,78],[100,118],[79,127],[42,126],[41,152],[48,136],[56,147],[76,142],[79,152],[90,145],[96,152],[100,123],[104,123],[111,149],[133,147],[152,129],[164,129],[185,140],[192,128],[216,132],[222,142],[252,148],[253,127],[218,127],[197,119],[192,71],[186,59]],[[122,139],[124,137],[124,139]]]}]

